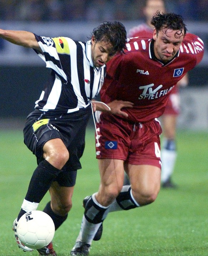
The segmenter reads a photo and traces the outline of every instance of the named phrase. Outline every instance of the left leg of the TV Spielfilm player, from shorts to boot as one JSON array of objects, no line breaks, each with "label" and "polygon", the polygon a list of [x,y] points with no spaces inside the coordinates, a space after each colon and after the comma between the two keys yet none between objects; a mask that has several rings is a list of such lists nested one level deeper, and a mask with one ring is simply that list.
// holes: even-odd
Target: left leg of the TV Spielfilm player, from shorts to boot
[{"label": "left leg of the TV Spielfilm player, from shorts to boot", "polygon": [[89,254],[91,242],[107,216],[108,205],[114,201],[123,186],[124,167],[122,160],[101,159],[98,160],[98,163],[101,177],[99,191],[86,198],[85,213],[79,236],[71,250],[72,256]]}]

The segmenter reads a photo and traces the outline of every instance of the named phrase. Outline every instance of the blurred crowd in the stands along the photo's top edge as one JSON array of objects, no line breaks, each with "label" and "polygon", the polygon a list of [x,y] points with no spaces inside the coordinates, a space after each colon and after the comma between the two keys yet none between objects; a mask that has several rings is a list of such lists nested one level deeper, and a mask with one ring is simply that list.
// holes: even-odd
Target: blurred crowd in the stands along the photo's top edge
[{"label": "blurred crowd in the stands along the photo's top edge", "polygon": [[[0,20],[103,21],[143,19],[144,0],[0,0]],[[208,21],[208,0],[166,0],[188,21]]]}]

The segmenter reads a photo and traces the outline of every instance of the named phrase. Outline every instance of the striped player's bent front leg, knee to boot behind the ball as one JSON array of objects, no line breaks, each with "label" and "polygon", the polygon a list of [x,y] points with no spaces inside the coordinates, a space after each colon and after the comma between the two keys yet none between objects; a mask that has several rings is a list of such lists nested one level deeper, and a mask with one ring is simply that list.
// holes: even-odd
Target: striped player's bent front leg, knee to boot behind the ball
[{"label": "striped player's bent front leg, knee to boot behind the ball", "polygon": [[[46,142],[43,147],[43,152],[45,160],[39,163],[31,177],[27,194],[21,205],[20,213],[13,224],[14,231],[20,217],[25,212],[37,209],[38,204],[49,190],[53,179],[59,174],[61,168],[69,159],[69,152],[63,141],[59,138],[51,139]],[[24,251],[31,251],[19,243],[16,233],[15,239],[21,249]]]}]

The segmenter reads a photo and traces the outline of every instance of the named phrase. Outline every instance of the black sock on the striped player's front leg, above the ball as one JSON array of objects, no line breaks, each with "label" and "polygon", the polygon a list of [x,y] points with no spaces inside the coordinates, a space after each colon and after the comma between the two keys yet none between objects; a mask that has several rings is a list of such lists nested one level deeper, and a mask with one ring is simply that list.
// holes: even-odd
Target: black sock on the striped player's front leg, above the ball
[{"label": "black sock on the striped player's front leg, above the ball", "polygon": [[43,160],[33,172],[25,200],[40,203],[60,170]]}]

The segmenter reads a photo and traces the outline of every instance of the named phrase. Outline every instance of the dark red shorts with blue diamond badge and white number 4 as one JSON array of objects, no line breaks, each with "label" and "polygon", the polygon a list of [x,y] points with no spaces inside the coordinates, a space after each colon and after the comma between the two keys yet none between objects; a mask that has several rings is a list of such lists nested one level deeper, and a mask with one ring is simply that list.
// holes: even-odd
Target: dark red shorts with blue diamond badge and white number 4
[{"label": "dark red shorts with blue diamond badge and white number 4", "polygon": [[[161,168],[160,134],[157,119],[133,123],[101,114],[96,124],[96,158],[121,159],[132,165],[154,165]],[[96,136],[96,134],[95,134]]]}]

